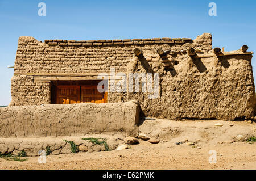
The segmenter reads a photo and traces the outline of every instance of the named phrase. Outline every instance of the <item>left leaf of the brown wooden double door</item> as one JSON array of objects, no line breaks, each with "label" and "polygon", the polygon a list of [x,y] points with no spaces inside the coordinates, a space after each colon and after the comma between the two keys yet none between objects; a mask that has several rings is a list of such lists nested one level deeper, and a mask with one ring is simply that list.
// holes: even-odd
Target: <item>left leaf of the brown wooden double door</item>
[{"label": "left leaf of the brown wooden double door", "polygon": [[80,86],[57,86],[57,104],[75,104],[81,102]]}]

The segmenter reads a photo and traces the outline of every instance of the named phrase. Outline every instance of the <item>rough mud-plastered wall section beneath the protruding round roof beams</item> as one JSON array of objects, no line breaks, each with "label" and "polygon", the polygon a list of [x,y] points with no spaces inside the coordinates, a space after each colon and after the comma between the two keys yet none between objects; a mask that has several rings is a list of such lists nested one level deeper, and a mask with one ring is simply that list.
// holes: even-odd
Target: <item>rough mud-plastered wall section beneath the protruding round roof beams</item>
[{"label": "rough mud-plastered wall section beneath the protruding round roof beams", "polygon": [[191,59],[180,54],[173,70],[164,71],[159,66],[158,98],[147,99],[147,93],[138,92],[130,93],[129,100],[138,100],[146,115],[153,117],[251,119],[256,103],[251,57]]}]

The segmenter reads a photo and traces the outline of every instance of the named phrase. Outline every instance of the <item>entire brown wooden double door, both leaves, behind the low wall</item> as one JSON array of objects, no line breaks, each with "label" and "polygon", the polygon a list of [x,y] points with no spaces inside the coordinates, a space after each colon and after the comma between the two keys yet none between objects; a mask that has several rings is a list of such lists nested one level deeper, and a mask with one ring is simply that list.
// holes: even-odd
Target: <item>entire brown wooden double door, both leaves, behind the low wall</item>
[{"label": "entire brown wooden double door, both leaves, behind the low wall", "polygon": [[108,93],[98,92],[97,86],[57,86],[57,104],[107,103]]}]

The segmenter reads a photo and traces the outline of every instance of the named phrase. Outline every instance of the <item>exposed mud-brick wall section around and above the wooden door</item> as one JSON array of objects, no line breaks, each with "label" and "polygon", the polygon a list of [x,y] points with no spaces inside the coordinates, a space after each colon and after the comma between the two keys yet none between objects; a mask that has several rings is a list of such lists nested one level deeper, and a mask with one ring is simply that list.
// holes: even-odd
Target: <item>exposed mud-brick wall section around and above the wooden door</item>
[{"label": "exposed mud-brick wall section around and above the wooden door", "polygon": [[[40,77],[75,76],[81,80],[90,79],[86,74],[127,72],[127,63],[133,58],[134,47],[144,52],[155,52],[163,47],[173,51],[188,47],[201,48],[203,52],[212,49],[212,36],[201,35],[191,39],[133,39],[133,40],[45,40],[44,43],[33,37],[20,37],[14,76],[11,79],[10,106],[40,105],[51,103],[50,82],[35,81]],[[151,57],[153,58],[154,57]],[[152,64],[152,62],[150,63]],[[89,75],[88,75],[89,76]],[[95,79],[95,77],[94,77]],[[109,102],[117,102],[119,96],[108,94]]]}]

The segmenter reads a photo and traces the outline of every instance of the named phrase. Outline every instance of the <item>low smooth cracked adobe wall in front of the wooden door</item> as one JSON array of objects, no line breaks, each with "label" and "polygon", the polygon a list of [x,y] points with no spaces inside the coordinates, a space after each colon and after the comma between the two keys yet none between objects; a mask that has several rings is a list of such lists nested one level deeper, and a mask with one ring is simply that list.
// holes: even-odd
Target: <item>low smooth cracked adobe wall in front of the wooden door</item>
[{"label": "low smooth cracked adobe wall in front of the wooden door", "polygon": [[136,101],[106,104],[48,104],[0,108],[0,137],[83,136],[138,133]]}]

